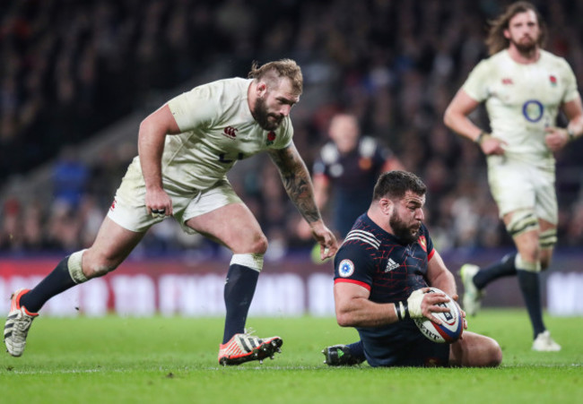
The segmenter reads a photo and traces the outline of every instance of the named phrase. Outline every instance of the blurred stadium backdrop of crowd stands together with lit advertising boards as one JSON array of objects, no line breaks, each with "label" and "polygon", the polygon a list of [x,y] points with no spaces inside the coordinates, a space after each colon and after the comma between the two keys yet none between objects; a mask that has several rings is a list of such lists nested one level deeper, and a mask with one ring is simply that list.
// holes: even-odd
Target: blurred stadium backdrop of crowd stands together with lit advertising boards
[{"label": "blurred stadium backdrop of crowd stands together with lit advertising boards", "polygon": [[[483,156],[441,119],[467,73],[486,56],[485,21],[508,3],[3,2],[0,295],[34,285],[63,254],[91,244],[136,153],[144,116],[196,84],[245,76],[254,60],[281,57],[297,60],[304,73],[305,93],[292,121],[309,167],[326,141],[328,118],[348,109],[364,133],[395,150],[429,186],[427,224],[452,271],[470,257],[477,263],[499,258],[512,243],[497,218]],[[577,19],[583,1],[534,3],[549,27],[547,49],[570,62],[581,88]],[[482,109],[473,118],[486,127]],[[565,124],[562,117],[559,123]],[[560,248],[544,276],[553,314],[583,314],[577,298],[583,287],[582,149],[579,141],[557,155]],[[252,314],[332,314],[332,271],[310,262],[311,242],[295,236],[300,216],[273,165],[250,159],[230,177],[270,241]],[[57,297],[46,312],[222,314],[228,260],[222,248],[166,220],[119,270]],[[162,301],[162,291],[171,291],[173,300]],[[521,305],[515,280],[488,292],[486,305]],[[7,304],[3,299],[0,309]]]}]

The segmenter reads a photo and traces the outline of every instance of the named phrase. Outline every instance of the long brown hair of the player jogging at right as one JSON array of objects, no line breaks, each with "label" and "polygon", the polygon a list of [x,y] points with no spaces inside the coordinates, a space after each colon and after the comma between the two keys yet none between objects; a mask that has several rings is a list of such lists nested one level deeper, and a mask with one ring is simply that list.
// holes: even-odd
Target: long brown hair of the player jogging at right
[{"label": "long brown hair of the player jogging at right", "polygon": [[538,12],[535,4],[529,2],[516,2],[510,4],[504,13],[500,14],[494,20],[488,21],[490,28],[488,30],[488,37],[486,38],[486,46],[488,47],[488,53],[490,56],[509,47],[509,39],[504,37],[504,30],[509,29],[510,20],[512,20],[516,14],[526,13],[528,11],[533,11],[536,14],[536,20],[538,21],[538,26],[541,30],[541,34],[538,37],[538,46],[544,47],[546,41],[546,25],[544,24],[541,13]]}]

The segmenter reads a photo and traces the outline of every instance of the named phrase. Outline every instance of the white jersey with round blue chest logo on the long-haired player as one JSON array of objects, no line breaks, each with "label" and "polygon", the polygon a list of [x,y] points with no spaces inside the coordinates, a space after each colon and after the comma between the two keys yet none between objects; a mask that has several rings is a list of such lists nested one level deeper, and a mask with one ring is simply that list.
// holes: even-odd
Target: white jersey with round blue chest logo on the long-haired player
[{"label": "white jersey with round blue chest logo on the long-haired player", "polygon": [[556,125],[561,104],[578,96],[565,59],[541,49],[536,63],[519,64],[505,49],[477,64],[462,88],[472,99],[486,101],[492,135],[509,143],[507,157],[554,167],[544,128]]}]

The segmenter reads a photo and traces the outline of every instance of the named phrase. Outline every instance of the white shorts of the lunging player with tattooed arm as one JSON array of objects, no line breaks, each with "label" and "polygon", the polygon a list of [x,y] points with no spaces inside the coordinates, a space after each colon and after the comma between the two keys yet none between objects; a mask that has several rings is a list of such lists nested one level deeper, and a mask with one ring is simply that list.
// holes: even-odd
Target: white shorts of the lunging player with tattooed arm
[{"label": "white shorts of the lunging player with tattooed arm", "polygon": [[[243,203],[233,190],[231,183],[225,177],[211,188],[189,195],[165,190],[172,199],[173,217],[180,227],[188,234],[196,234],[188,228],[188,219],[203,215],[209,211],[221,208],[231,203]],[[109,208],[108,217],[122,228],[135,232],[144,232],[152,225],[167,219],[170,216],[153,218],[145,207],[145,186],[140,181],[125,176],[117,188],[114,202]]]}]

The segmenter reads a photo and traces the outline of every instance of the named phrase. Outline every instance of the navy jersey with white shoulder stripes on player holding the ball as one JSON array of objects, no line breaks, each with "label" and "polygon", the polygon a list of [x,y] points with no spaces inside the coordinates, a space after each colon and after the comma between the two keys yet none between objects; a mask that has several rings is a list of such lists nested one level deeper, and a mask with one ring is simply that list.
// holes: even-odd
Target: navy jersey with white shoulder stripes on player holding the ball
[{"label": "navy jersey with white shoulder stripes on player holding the ball", "polygon": [[335,283],[361,285],[370,290],[369,299],[375,303],[406,300],[413,290],[428,286],[427,263],[433,253],[424,225],[417,242],[404,245],[364,213],[335,255]]}]

